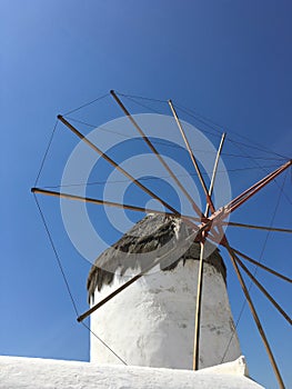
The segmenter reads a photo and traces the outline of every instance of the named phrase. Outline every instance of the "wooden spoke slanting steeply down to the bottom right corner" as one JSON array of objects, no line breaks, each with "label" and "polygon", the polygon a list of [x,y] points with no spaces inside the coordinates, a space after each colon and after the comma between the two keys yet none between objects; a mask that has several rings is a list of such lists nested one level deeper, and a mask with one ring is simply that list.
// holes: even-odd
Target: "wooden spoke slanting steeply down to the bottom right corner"
[{"label": "wooden spoke slanting steeply down to the bottom right corner", "polygon": [[234,253],[233,253],[231,247],[230,247],[228,243],[226,243],[225,247],[226,247],[226,250],[228,250],[229,256],[230,256],[230,258],[231,258],[231,262],[232,262],[232,265],[233,265],[233,268],[234,268],[235,273],[236,273],[236,276],[238,276],[238,279],[239,279],[239,281],[240,281],[240,285],[241,285],[241,288],[242,288],[242,290],[243,290],[243,293],[244,293],[244,296],[245,296],[245,298],[246,298],[246,300],[248,300],[248,303],[249,303],[251,313],[252,313],[252,316],[253,316],[253,319],[254,319],[254,321],[255,321],[255,325],[256,325],[256,327],[258,327],[258,330],[259,330],[259,332],[260,332],[260,335],[261,335],[261,338],[262,338],[262,341],[263,341],[263,343],[264,343],[264,347],[265,347],[268,357],[269,357],[269,359],[270,359],[270,362],[271,362],[272,368],[273,368],[273,370],[274,370],[275,377],[276,377],[276,379],[278,379],[278,383],[279,383],[280,388],[284,389],[285,386],[284,386],[284,382],[283,382],[283,380],[282,380],[280,370],[279,370],[279,368],[278,368],[278,366],[276,366],[276,362],[275,362],[273,352],[272,352],[272,350],[271,350],[271,347],[270,347],[270,345],[269,345],[269,341],[268,341],[266,336],[265,336],[265,333],[264,333],[264,330],[263,330],[263,328],[262,328],[261,321],[260,321],[260,319],[259,319],[259,316],[258,316],[258,313],[256,313],[256,310],[255,310],[254,305],[253,305],[253,302],[252,302],[252,299],[251,299],[251,297],[250,297],[249,290],[248,290],[245,283],[244,283],[244,280],[243,280],[243,278],[242,278],[242,275],[241,275],[241,272],[240,272],[240,269],[239,269],[239,267],[238,267],[238,263],[236,263],[236,261],[235,261],[235,259],[234,259]]}]

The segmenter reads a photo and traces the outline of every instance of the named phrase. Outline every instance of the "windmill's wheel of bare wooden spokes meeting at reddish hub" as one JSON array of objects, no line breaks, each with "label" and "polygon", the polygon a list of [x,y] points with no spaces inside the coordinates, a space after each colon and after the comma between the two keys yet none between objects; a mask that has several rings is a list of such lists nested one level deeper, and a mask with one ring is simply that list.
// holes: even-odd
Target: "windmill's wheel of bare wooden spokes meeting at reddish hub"
[{"label": "windmill's wheel of bare wooden spokes meeting at reddish hub", "polygon": [[[279,386],[281,388],[284,388],[283,379],[281,377],[280,370],[278,368],[275,358],[273,356],[272,349],[269,345],[266,335],[263,330],[263,327],[261,325],[259,315],[256,312],[256,309],[254,307],[254,303],[252,301],[252,298],[249,292],[249,288],[246,286],[246,282],[244,281],[244,278],[242,276],[242,271],[248,275],[248,277],[252,280],[252,282],[263,292],[263,295],[269,299],[269,301],[275,307],[275,309],[283,316],[283,318],[291,325],[291,318],[288,316],[288,313],[281,308],[281,306],[275,301],[275,299],[268,292],[268,290],[262,286],[262,283],[255,278],[254,273],[252,273],[249,268],[244,265],[244,260],[252,262],[256,267],[272,273],[273,276],[285,280],[288,282],[291,282],[291,279],[288,278],[284,275],[281,275],[280,272],[262,265],[260,261],[256,261],[245,253],[243,253],[241,250],[238,250],[232,247],[230,243],[230,240],[226,237],[226,233],[224,231],[226,226],[231,227],[238,227],[242,229],[254,229],[254,230],[266,230],[266,231],[275,231],[275,232],[283,232],[283,233],[291,233],[292,230],[284,229],[284,228],[273,228],[273,227],[263,227],[263,226],[255,226],[251,223],[240,223],[240,222],[229,222],[228,218],[229,216],[235,211],[236,209],[241,208],[245,202],[248,202],[255,193],[260,192],[264,187],[266,187],[271,181],[273,181],[276,177],[279,177],[281,173],[286,171],[291,164],[292,161],[288,160],[284,163],[282,163],[280,167],[274,169],[272,172],[269,172],[265,174],[262,179],[260,179],[258,182],[253,183],[250,188],[245,189],[242,193],[233,198],[231,201],[222,205],[220,208],[217,209],[212,194],[214,189],[214,182],[217,179],[217,172],[218,172],[218,166],[220,161],[220,156],[222,153],[222,148],[225,140],[225,133],[222,134],[220,144],[218,148],[218,152],[214,159],[213,164],[213,171],[210,179],[210,184],[208,187],[207,181],[203,177],[202,169],[200,167],[200,163],[198,163],[197,157],[193,153],[191,143],[189,141],[189,138],[184,131],[183,122],[180,120],[175,104],[169,100],[168,104],[170,108],[170,112],[172,113],[175,124],[178,127],[178,133],[180,133],[181,139],[184,142],[185,149],[188,150],[190,161],[192,162],[193,171],[199,178],[199,182],[201,184],[201,189],[205,199],[205,207],[204,209],[201,209],[197,201],[194,200],[193,196],[190,194],[188,188],[183,186],[175,173],[173,171],[172,167],[165,161],[165,159],[161,156],[158,148],[154,146],[154,142],[151,140],[150,137],[144,132],[143,128],[140,126],[138,120],[129,112],[129,110],[125,108],[123,102],[121,101],[118,93],[114,91],[111,91],[111,96],[117,101],[119,107],[122,109],[123,113],[125,114],[127,120],[131,123],[131,126],[138,131],[140,138],[142,141],[147,144],[147,147],[151,150],[151,152],[154,154],[154,157],[158,159],[158,161],[161,163],[161,166],[165,169],[168,174],[173,179],[177,187],[181,190],[185,199],[190,202],[194,215],[184,215],[177,210],[169,201],[165,201],[162,196],[158,194],[153,190],[149,189],[144,183],[141,182],[141,180],[138,180],[133,174],[131,174],[128,170],[125,170],[119,162],[114,161],[108,153],[104,152],[99,146],[92,141],[89,137],[85,137],[79,129],[72,124],[70,119],[67,118],[67,116],[58,116],[58,120],[62,122],[69,130],[71,130],[83,143],[85,143],[88,147],[90,147],[94,152],[97,152],[102,159],[104,159],[108,163],[110,163],[115,170],[118,170],[121,174],[123,174],[128,180],[130,180],[134,186],[137,186],[141,191],[147,193],[152,199],[155,199],[158,202],[160,202],[165,210],[161,211],[158,209],[150,209],[144,207],[138,207],[133,205],[125,205],[125,203],[119,203],[108,200],[101,200],[95,198],[89,198],[85,196],[75,196],[72,193],[63,192],[63,191],[52,191],[48,190],[46,188],[32,188],[33,193],[41,193],[41,194],[48,194],[48,196],[54,196],[59,197],[61,199],[70,199],[75,201],[82,201],[82,202],[90,202],[95,205],[102,205],[105,207],[114,207],[114,208],[121,208],[121,209],[128,209],[131,211],[138,211],[138,212],[151,212],[153,215],[165,215],[169,218],[172,219],[179,219],[185,222],[193,231],[195,237],[195,241],[200,246],[200,255],[199,255],[199,271],[198,271],[198,290],[197,290],[197,302],[195,302],[195,320],[194,320],[194,342],[193,342],[193,369],[199,369],[199,356],[200,356],[200,329],[201,329],[201,311],[202,311],[202,288],[203,288],[203,270],[205,266],[205,256],[204,252],[207,250],[207,242],[212,242],[217,246],[220,246],[224,248],[230,257],[231,263],[234,268],[235,275],[238,277],[239,283],[242,288],[242,291],[245,296],[245,299],[248,301],[248,305],[250,307],[251,313],[253,316],[253,319],[256,323],[258,330],[260,332],[260,336],[262,338],[262,341],[264,343],[264,347],[266,349],[269,359],[271,361],[272,368],[274,370],[274,373],[276,376]],[[112,291],[109,296],[107,296],[104,299],[99,301],[97,305],[93,305],[87,312],[80,315],[78,317],[78,321],[83,321],[88,316],[97,311],[99,308],[108,303],[111,299],[113,299],[115,296],[122,293],[123,290],[125,290],[128,287],[137,282],[139,279],[143,278],[145,273],[151,271],[155,266],[158,266],[160,262],[160,259],[154,260],[153,262],[149,263],[148,267],[144,267],[139,273],[137,273],[134,277],[132,277],[130,280],[125,281],[122,286],[120,286],[118,289]]]}]

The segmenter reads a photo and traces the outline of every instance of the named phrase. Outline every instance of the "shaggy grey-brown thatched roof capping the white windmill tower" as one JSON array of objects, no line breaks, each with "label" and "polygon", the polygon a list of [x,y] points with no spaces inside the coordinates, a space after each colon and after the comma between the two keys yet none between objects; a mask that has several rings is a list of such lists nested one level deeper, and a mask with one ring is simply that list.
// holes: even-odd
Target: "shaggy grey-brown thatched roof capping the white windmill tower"
[{"label": "shaggy grey-brown thatched roof capping the white windmill tower", "polygon": [[[181,219],[148,215],[95,260],[88,277],[89,297],[97,288],[101,290],[103,285],[110,285],[114,275],[123,276],[128,269],[141,271],[157,258],[161,258],[163,271],[174,269],[180,261],[184,265],[185,260],[198,260],[200,243],[193,238],[192,229]],[[205,252],[205,262],[211,263],[225,281],[226,268],[219,250],[207,242]]]}]

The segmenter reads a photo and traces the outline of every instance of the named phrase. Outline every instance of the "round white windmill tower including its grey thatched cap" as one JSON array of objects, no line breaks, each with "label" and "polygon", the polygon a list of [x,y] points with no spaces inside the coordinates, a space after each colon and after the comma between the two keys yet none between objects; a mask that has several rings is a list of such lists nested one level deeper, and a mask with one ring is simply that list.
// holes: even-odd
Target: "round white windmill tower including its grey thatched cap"
[{"label": "round white windmill tower including its grey thatched cap", "polygon": [[[185,251],[185,238],[192,238],[192,230],[181,220],[149,215],[104,251],[91,269],[88,288],[94,306],[124,285],[134,270],[142,271],[159,261],[150,273],[91,316],[92,332],[107,345],[112,345],[127,363],[179,369],[193,367],[200,243],[192,242]],[[233,361],[241,355],[225,272],[218,250],[204,258],[200,369]],[[90,352],[93,362],[120,362],[93,335]]]}]

